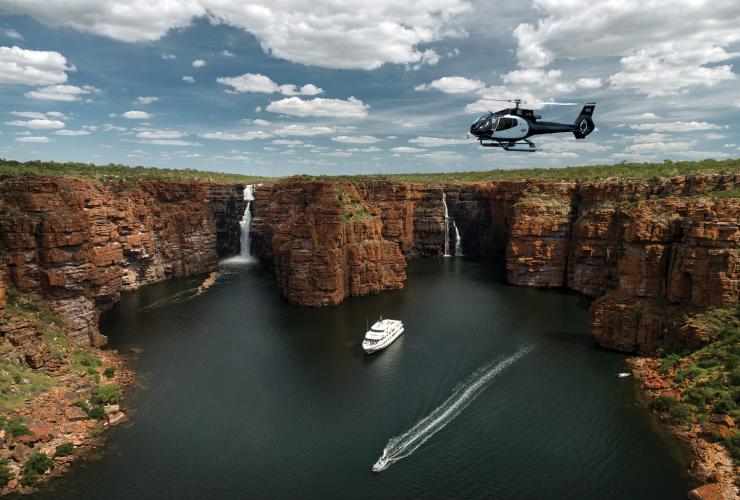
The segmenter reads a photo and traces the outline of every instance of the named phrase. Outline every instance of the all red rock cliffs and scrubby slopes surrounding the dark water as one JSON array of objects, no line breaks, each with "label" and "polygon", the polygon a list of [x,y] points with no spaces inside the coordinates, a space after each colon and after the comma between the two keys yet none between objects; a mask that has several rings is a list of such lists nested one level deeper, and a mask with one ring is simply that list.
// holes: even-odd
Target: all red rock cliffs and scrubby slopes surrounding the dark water
[{"label": "all red rock cliffs and scrubby slopes surrounding the dark water", "polygon": [[691,494],[737,496],[737,161],[473,179],[147,179],[104,168],[6,165],[0,177],[3,491],[64,471],[126,420],[134,374],[105,348],[101,314],[122,293],[210,273],[238,253],[249,183],[252,254],[291,304],[400,289],[407,262],[441,257],[455,231],[466,256],[495,262],[510,285],[592,298],[594,342],[640,356],[631,363],[647,404],[687,443],[703,484]]}]

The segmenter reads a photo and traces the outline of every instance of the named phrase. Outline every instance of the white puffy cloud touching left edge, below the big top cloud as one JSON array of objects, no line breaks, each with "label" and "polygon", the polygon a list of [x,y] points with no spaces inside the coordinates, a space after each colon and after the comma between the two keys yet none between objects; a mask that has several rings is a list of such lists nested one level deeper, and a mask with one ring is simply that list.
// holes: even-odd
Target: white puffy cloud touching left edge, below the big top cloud
[{"label": "white puffy cloud touching left edge, below the big top cloud", "polygon": [[0,84],[54,85],[67,81],[67,59],[59,52],[0,47]]}]

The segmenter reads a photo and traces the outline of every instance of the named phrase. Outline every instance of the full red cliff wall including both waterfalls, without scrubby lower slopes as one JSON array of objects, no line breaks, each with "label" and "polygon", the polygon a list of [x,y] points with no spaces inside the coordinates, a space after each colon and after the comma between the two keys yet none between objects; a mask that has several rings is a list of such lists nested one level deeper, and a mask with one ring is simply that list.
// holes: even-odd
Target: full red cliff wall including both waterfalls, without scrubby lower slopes
[{"label": "full red cliff wall including both waterfalls, without scrubby lower slopes", "polygon": [[[411,260],[463,249],[510,285],[593,298],[587,327],[603,348],[695,351],[713,340],[696,317],[738,302],[739,185],[737,173],[455,183],[296,177],[246,187],[5,176],[4,362],[60,371],[74,346],[106,344],[100,317],[123,292],[211,272],[234,255],[258,259],[289,304],[338,306],[404,288]],[[71,347],[60,351],[40,313],[24,313],[20,306],[34,301],[59,319]]]}]

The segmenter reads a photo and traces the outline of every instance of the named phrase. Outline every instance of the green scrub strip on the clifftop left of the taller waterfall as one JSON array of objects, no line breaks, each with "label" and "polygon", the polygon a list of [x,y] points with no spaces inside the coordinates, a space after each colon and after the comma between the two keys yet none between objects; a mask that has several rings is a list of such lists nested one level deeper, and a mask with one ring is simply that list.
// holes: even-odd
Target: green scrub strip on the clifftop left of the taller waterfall
[{"label": "green scrub strip on the clifftop left of the taller waterfall", "polygon": [[199,181],[234,181],[249,184],[267,180],[265,177],[240,174],[226,174],[223,172],[207,172],[203,170],[129,167],[126,165],[109,164],[94,165],[92,163],[57,163],[43,161],[18,162],[0,158],[0,175],[50,175],[73,177],[78,179],[100,180],[129,180],[157,179],[157,180],[199,180]]}]

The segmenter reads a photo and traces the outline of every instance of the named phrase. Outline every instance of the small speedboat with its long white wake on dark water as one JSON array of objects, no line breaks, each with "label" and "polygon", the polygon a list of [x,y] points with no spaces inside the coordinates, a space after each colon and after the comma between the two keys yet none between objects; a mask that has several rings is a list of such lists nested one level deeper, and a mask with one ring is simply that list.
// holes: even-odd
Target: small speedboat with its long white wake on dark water
[{"label": "small speedboat with its long white wake on dark water", "polygon": [[478,368],[465,381],[455,386],[450,397],[432,413],[403,434],[391,438],[383,449],[383,456],[373,465],[373,472],[383,471],[415,452],[419,446],[441,431],[472,403],[485,390],[489,382],[531,350],[532,346],[522,347],[508,358],[499,358]]}]

